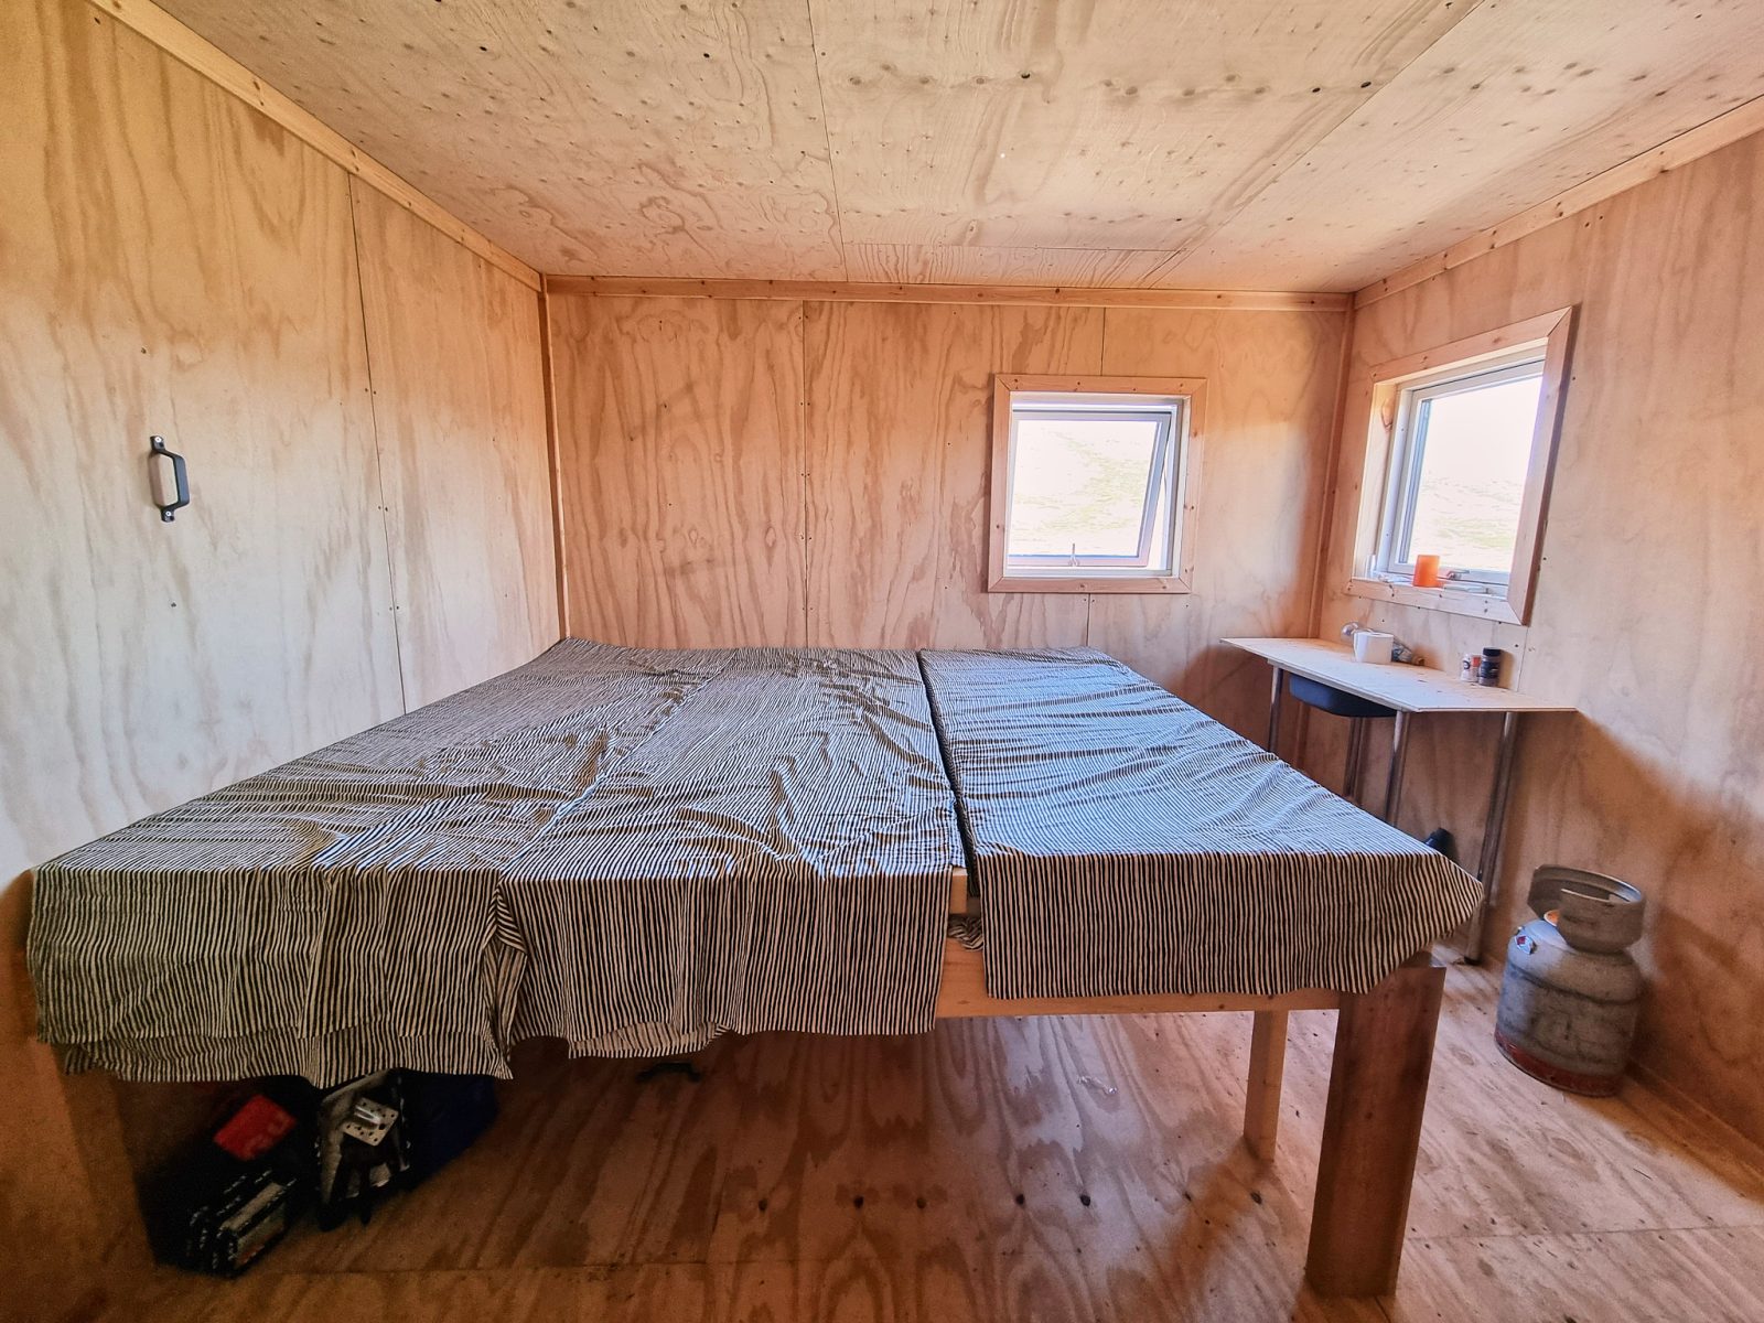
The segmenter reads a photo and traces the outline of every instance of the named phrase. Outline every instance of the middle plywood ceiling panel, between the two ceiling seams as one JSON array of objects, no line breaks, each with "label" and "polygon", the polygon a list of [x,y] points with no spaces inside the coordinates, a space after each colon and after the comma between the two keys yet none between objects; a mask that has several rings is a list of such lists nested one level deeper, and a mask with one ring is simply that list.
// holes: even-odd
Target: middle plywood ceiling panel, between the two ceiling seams
[{"label": "middle plywood ceiling panel, between the two ceiling seams", "polygon": [[1180,252],[1469,7],[811,9],[847,243]]}]

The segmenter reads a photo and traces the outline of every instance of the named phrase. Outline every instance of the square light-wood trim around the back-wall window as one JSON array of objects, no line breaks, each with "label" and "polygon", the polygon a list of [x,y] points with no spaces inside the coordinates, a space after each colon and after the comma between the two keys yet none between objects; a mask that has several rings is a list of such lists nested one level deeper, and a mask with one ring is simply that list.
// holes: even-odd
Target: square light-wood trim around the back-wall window
[{"label": "square light-wood trim around the back-wall window", "polygon": [[[1016,395],[1159,395],[1182,400],[1168,573],[1134,575],[1013,575],[1005,570],[1005,513],[1011,505],[1011,411]],[[1194,591],[1194,529],[1205,436],[1205,377],[1055,377],[997,374],[991,415],[991,505],[988,519],[988,593],[1140,593],[1162,596]],[[1083,570],[1083,566],[1076,566]]]}]

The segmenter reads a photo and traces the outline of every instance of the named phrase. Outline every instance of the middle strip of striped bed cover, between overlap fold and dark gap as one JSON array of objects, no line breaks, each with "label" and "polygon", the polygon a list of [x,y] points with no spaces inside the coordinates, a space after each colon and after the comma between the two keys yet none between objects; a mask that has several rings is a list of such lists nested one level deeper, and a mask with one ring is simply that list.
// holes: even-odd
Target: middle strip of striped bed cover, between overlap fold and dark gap
[{"label": "middle strip of striped bed cover, between overlap fold and dark gap", "polygon": [[716,677],[510,861],[517,1037],[930,1030],[961,841],[916,656],[690,656]]}]

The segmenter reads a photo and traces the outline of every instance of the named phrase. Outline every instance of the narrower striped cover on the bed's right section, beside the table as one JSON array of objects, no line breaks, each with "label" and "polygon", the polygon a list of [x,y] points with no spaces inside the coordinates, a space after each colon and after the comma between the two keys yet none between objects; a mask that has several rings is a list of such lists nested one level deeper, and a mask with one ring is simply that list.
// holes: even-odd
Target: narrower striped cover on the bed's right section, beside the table
[{"label": "narrower striped cover on the bed's right section, beside the table", "polygon": [[921,653],[993,997],[1365,991],[1480,884],[1094,649]]}]

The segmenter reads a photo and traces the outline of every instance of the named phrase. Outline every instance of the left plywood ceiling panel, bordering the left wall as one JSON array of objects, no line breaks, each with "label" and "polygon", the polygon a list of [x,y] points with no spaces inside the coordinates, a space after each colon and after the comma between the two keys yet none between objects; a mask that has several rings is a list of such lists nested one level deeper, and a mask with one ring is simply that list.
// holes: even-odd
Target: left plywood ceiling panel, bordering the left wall
[{"label": "left plywood ceiling panel, bordering the left wall", "polygon": [[797,0],[169,9],[540,270],[845,279]]}]

